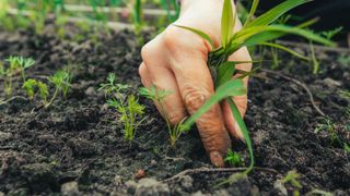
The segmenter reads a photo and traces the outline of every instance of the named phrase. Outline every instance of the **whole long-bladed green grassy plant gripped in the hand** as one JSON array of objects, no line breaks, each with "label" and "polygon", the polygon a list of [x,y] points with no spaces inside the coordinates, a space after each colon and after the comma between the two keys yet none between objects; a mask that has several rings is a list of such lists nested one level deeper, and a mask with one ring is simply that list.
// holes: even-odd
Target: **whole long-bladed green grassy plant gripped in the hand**
[{"label": "whole long-bladed green grassy plant gripped in the hand", "polygon": [[243,78],[250,73],[243,72],[243,74],[238,78],[233,79],[233,75],[242,73],[242,71],[235,69],[235,65],[242,62],[229,62],[229,57],[242,47],[252,47],[257,45],[268,45],[270,47],[276,47],[293,54],[298,54],[296,52],[281,45],[268,42],[287,34],[294,34],[305,37],[315,42],[325,45],[334,44],[322,36],[303,29],[303,27],[310,25],[311,22],[303,23],[299,26],[273,24],[285,12],[300,4],[308,2],[307,0],[287,0],[256,19],[254,19],[254,14],[258,5],[258,0],[254,0],[247,20],[245,21],[242,29],[238,32],[233,32],[236,13],[233,13],[231,1],[232,0],[224,0],[221,19],[221,46],[219,46],[218,48],[214,47],[212,39],[206,33],[188,26],[178,26],[199,35],[210,44],[212,50],[208,57],[208,66],[217,72],[217,79],[214,81],[215,94],[182,126],[183,128],[188,130],[196,122],[196,120],[198,120],[198,118],[207,112],[213,105],[226,100],[230,105],[233,117],[237,121],[243,132],[249,150],[250,166],[244,172],[246,174],[253,170],[255,163],[252,139],[249,137],[247,127],[238,112],[238,109],[235,102],[232,100],[232,97],[241,96],[246,93],[246,89],[243,85]]}]

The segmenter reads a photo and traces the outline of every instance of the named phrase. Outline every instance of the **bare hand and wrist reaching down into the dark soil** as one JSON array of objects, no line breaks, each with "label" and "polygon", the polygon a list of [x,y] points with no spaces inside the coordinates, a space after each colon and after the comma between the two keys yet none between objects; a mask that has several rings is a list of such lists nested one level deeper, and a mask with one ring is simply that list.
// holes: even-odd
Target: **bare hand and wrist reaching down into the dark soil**
[{"label": "bare hand and wrist reaching down into the dark soil", "polygon": [[[222,5],[223,0],[183,0],[180,16],[174,24],[207,33],[218,47],[221,40]],[[234,30],[240,28],[241,23],[236,23]],[[155,85],[159,89],[172,90],[162,102],[172,124],[196,112],[214,94],[207,65],[209,52],[210,46],[206,40],[174,25],[170,25],[142,48],[143,62],[139,68],[142,84],[145,87]],[[248,50],[242,48],[229,60],[252,61],[252,58]],[[250,71],[252,64],[237,64],[236,68]],[[243,117],[247,109],[247,96],[235,97],[233,100]],[[160,106],[155,105],[162,113]],[[229,134],[244,140],[230,107],[226,102],[217,105],[196,123],[212,164],[224,167],[223,157],[231,148]]]}]

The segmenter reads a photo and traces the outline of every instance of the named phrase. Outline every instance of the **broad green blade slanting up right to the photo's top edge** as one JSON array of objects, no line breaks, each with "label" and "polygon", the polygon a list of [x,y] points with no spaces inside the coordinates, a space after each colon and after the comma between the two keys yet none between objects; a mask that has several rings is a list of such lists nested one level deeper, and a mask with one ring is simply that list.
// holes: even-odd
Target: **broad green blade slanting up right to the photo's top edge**
[{"label": "broad green blade slanting up right to the photo's top edge", "polygon": [[277,19],[279,19],[281,15],[283,15],[285,12],[292,10],[298,5],[304,4],[308,1],[310,0],[287,0],[281,4],[272,8],[265,14],[260,15],[256,20],[252,21],[246,26],[249,27],[249,26],[269,25],[273,23]]}]

